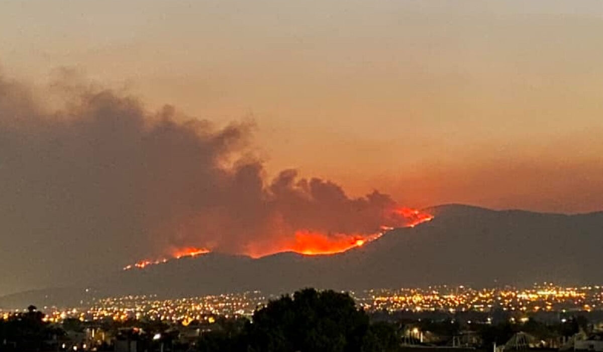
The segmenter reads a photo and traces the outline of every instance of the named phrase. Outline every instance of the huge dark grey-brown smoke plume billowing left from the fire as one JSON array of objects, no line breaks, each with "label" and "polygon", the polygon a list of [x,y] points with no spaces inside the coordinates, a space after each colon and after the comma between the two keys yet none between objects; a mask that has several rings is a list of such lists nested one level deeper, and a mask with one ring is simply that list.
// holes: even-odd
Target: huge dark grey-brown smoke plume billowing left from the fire
[{"label": "huge dark grey-brown smoke plume billowing left from the fire", "polygon": [[57,87],[67,103],[48,112],[27,86],[0,76],[4,293],[93,278],[182,246],[245,253],[298,229],[374,232],[395,206],[377,192],[350,199],[295,170],[265,181],[248,152],[252,123],[218,128],[109,90]]}]

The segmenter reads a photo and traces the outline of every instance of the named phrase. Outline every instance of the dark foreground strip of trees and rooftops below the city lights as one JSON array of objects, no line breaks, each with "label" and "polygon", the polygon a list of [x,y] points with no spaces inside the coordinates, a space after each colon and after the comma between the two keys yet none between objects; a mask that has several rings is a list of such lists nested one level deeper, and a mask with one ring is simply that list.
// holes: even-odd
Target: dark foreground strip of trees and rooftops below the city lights
[{"label": "dark foreground strip of trees and rooftops below the city lights", "polygon": [[270,301],[251,320],[210,316],[166,324],[68,318],[51,324],[43,318],[30,306],[27,312],[0,320],[0,351],[487,352],[498,346],[497,352],[545,352],[580,350],[603,340],[598,334],[602,326],[583,316],[554,324],[534,319],[471,322],[369,316],[346,293],[315,289]]}]

